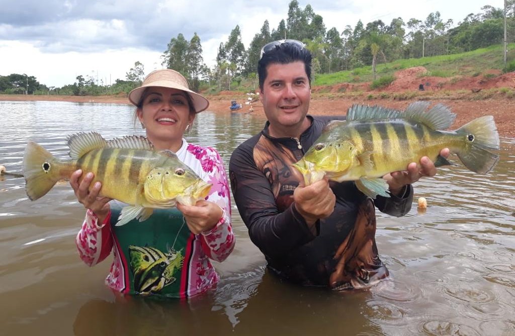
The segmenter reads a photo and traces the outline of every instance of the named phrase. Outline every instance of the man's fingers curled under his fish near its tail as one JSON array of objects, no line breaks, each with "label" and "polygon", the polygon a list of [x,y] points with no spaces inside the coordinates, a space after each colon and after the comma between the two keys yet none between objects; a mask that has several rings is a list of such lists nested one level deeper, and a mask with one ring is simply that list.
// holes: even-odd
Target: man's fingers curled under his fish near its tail
[{"label": "man's fingers curled under his fish near its tail", "polygon": [[[449,148],[444,148],[440,151],[440,155],[445,158],[449,156],[449,153]],[[427,156],[422,156],[420,158],[420,165],[412,162],[406,170],[394,171],[385,175],[384,179],[389,185],[390,193],[398,196],[405,185],[417,182],[422,176],[432,177],[434,175],[436,175],[435,164]]]}]

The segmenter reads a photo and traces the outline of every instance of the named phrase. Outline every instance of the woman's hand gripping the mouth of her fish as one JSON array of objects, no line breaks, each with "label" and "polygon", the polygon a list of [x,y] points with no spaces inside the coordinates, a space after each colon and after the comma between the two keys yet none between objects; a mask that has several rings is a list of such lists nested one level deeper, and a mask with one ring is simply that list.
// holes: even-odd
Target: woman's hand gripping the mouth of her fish
[{"label": "woman's hand gripping the mouth of her fish", "polygon": [[200,200],[195,205],[177,203],[177,209],[186,219],[190,231],[197,235],[209,231],[224,215],[224,210],[213,202]]}]

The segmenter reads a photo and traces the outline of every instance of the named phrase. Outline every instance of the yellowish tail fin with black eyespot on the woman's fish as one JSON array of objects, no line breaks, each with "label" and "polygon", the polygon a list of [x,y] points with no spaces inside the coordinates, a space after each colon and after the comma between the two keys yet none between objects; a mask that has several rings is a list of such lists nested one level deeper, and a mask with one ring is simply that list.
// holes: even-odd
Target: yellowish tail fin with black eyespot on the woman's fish
[{"label": "yellowish tail fin with black eyespot on the woman's fish", "polygon": [[59,181],[60,161],[42,146],[29,142],[23,155],[25,191],[30,200],[43,197]]}]

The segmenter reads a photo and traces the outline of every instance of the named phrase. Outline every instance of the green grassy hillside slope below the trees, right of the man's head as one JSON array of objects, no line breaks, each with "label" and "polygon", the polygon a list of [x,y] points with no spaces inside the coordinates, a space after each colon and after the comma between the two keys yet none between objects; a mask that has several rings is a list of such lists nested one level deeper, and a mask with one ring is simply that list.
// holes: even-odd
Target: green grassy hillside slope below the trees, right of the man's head
[{"label": "green grassy hillside slope below the trees, right of the man's head", "polygon": [[[515,44],[508,45],[507,72],[515,70]],[[450,78],[454,76],[476,77],[491,76],[492,70],[502,73],[504,70],[503,46],[494,45],[454,55],[424,57],[418,59],[397,60],[391,63],[381,63],[376,66],[376,80],[381,77],[393,77],[401,69],[423,66],[428,76]],[[490,74],[490,75],[488,75]],[[349,71],[333,74],[317,74],[314,86],[334,85],[338,83],[372,82],[372,66],[364,66]]]}]

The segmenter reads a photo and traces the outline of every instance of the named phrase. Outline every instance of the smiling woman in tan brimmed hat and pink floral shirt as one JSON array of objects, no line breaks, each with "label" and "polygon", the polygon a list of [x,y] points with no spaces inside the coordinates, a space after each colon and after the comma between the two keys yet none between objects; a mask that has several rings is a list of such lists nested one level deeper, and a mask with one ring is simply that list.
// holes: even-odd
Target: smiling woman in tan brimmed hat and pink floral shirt
[{"label": "smiling woman in tan brimmed hat and pink floral shirt", "polygon": [[223,261],[234,247],[231,207],[225,167],[210,147],[188,144],[183,138],[197,113],[209,101],[188,88],[186,79],[171,69],[155,70],[129,93],[138,118],[156,150],[171,150],[205,182],[205,200],[194,206],[156,209],[143,222],[115,226],[122,204],[99,197],[101,185],[89,190],[93,173],[75,171],[70,184],[87,208],[77,235],[80,258],[89,266],[114,261],[106,284],[125,294],[188,297],[215,284],[218,276],[209,259]]}]

